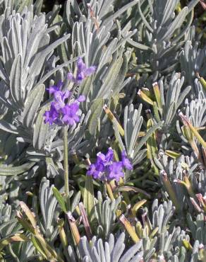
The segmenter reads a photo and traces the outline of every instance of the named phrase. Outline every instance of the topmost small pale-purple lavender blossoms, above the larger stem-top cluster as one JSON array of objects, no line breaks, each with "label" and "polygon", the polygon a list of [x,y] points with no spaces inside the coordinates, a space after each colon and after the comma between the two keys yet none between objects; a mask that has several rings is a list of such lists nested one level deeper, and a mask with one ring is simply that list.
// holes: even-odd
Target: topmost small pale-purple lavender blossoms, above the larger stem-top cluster
[{"label": "topmost small pale-purple lavender blossoms, above the larger stem-top cluster", "polygon": [[83,62],[82,57],[78,57],[76,76],[74,76],[71,73],[68,73],[67,76],[70,81],[73,81],[73,83],[80,84],[87,76],[93,74],[95,70],[96,70],[95,66],[87,68],[85,63]]}]

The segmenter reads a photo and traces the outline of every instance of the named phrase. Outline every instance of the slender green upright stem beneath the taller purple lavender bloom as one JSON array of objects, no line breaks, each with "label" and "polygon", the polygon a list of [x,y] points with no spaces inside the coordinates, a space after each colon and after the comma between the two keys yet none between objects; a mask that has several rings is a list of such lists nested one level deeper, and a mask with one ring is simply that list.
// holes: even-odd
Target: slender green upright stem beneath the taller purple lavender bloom
[{"label": "slender green upright stem beneath the taller purple lavender bloom", "polygon": [[67,208],[70,207],[68,187],[68,127],[63,127],[63,170],[64,170],[64,193],[66,195]]}]

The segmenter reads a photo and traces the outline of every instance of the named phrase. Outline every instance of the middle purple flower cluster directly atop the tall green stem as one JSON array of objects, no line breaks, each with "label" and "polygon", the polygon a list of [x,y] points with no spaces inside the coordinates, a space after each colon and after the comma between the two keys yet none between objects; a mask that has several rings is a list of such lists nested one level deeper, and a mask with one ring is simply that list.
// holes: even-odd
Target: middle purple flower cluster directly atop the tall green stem
[{"label": "middle purple flower cluster directly atop the tall green stem", "polygon": [[79,96],[78,99],[72,103],[68,103],[71,98],[70,91],[61,91],[62,82],[57,86],[51,86],[49,93],[54,95],[54,102],[51,103],[50,110],[44,113],[44,123],[49,125],[74,125],[80,121],[79,105],[80,102],[85,101],[85,96]]}]

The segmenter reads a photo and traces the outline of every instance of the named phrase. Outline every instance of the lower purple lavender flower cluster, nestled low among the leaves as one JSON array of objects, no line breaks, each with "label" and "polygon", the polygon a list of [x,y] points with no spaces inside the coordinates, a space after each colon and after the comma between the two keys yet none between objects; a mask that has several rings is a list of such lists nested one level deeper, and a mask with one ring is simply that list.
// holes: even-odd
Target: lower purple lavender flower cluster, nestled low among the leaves
[{"label": "lower purple lavender flower cluster, nestled low among the leaves", "polygon": [[126,152],[121,153],[121,161],[114,161],[114,152],[109,147],[107,154],[99,152],[95,164],[90,164],[87,176],[93,176],[95,179],[111,181],[123,178],[123,169],[133,169],[131,161],[126,157]]}]

